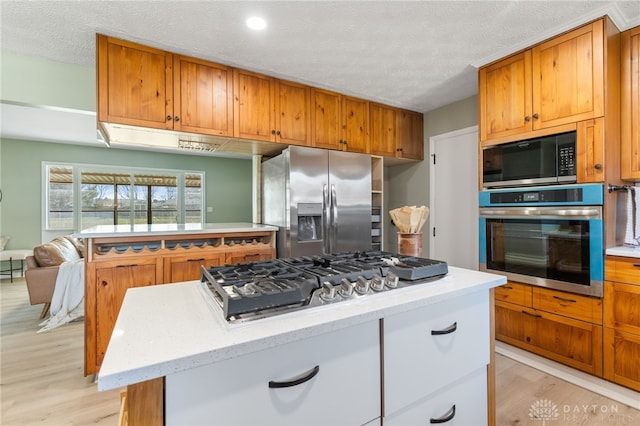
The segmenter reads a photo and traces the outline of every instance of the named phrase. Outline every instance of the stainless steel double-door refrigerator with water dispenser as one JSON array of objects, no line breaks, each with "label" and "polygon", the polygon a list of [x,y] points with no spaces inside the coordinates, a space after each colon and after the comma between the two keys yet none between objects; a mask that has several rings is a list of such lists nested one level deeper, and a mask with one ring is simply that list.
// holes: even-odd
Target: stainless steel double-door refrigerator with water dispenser
[{"label": "stainless steel double-door refrigerator with water dispenser", "polygon": [[371,249],[371,157],[291,146],[262,163],[262,223],[278,257]]}]

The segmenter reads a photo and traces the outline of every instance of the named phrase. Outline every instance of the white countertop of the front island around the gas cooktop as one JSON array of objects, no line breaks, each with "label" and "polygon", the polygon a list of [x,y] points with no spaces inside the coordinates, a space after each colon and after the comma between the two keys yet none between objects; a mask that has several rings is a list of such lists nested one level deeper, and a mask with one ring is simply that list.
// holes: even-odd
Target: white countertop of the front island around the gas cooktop
[{"label": "white countertop of the front island around the gas cooktop", "polygon": [[98,374],[101,391],[155,379],[376,320],[506,283],[501,275],[449,267],[412,287],[228,325],[199,281],[129,289]]}]

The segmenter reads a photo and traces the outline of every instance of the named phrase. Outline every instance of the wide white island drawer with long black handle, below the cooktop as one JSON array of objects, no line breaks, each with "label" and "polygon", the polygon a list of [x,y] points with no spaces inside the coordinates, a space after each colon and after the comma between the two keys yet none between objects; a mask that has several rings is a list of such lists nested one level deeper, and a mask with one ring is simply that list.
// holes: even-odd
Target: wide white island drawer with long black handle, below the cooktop
[{"label": "wide white island drawer with long black handle, below the cooktop", "polygon": [[365,424],[380,417],[379,348],[374,320],[168,375],[165,424]]}]

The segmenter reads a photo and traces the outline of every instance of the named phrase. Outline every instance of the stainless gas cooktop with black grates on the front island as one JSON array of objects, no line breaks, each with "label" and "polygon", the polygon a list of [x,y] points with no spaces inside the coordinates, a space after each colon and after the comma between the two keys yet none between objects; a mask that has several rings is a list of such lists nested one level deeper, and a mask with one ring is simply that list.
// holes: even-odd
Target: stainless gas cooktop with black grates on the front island
[{"label": "stainless gas cooktop with black grates on the front island", "polygon": [[236,324],[427,283],[447,273],[442,261],[364,251],[202,267],[201,281],[207,300]]}]

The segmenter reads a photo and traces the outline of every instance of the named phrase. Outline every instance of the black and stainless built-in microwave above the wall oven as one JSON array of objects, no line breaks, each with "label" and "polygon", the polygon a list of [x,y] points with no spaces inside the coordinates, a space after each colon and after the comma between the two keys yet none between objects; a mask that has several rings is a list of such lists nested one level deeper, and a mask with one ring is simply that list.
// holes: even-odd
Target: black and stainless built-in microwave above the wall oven
[{"label": "black and stainless built-in microwave above the wall oven", "polygon": [[484,148],[485,188],[576,182],[576,132]]}]

